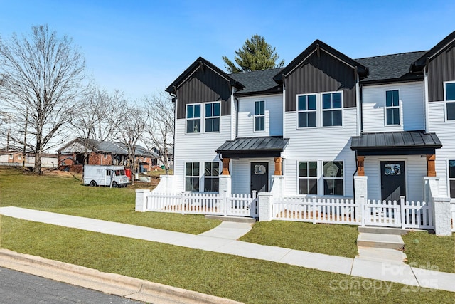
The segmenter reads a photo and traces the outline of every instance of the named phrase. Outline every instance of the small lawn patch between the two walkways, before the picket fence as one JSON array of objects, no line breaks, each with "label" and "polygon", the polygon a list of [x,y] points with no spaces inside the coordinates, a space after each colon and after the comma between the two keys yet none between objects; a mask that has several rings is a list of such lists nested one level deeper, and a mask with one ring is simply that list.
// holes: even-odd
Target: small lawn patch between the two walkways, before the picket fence
[{"label": "small lawn patch between the two walkways, before the picket fence", "polygon": [[357,256],[357,226],[298,221],[259,221],[241,241],[332,256]]}]

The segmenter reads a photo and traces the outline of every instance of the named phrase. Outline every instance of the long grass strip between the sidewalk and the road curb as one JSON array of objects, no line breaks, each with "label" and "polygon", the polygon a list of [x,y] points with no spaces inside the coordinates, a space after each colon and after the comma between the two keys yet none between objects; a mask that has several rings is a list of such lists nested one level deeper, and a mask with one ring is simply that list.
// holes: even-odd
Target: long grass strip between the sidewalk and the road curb
[{"label": "long grass strip between the sidewalk and the road curb", "polygon": [[97,234],[7,216],[1,216],[0,224],[1,248],[245,303],[454,303],[455,293],[441,290],[416,290],[398,283]]}]

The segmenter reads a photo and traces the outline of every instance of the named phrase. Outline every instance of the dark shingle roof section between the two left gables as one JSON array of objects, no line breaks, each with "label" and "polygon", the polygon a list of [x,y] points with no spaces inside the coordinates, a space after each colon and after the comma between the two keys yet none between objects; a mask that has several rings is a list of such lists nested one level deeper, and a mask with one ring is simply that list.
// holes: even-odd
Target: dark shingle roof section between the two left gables
[{"label": "dark shingle roof section between the two left gables", "polygon": [[274,80],[284,68],[272,68],[269,70],[253,70],[251,72],[233,73],[230,77],[245,85],[245,89],[238,91],[237,95],[248,93],[281,93],[281,86]]}]

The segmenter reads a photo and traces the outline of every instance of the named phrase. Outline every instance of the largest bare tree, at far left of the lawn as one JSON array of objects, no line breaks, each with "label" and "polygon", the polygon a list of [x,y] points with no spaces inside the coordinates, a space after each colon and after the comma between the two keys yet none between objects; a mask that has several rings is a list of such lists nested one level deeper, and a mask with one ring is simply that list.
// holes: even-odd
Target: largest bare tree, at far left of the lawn
[{"label": "largest bare tree, at far left of the lawn", "polygon": [[68,36],[31,29],[0,41],[0,103],[14,115],[11,137],[35,154],[33,172],[41,174],[41,155],[73,116],[85,60]]}]

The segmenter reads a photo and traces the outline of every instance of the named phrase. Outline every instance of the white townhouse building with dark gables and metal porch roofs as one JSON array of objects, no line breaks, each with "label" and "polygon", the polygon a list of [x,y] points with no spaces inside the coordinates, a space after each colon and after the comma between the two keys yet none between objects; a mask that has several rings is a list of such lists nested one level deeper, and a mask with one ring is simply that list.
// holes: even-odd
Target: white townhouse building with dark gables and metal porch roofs
[{"label": "white townhouse building with dark gables and metal porch roofs", "polygon": [[455,200],[455,31],[430,51],[352,59],[316,40],[285,68],[227,74],[198,58],[176,103],[177,192],[269,192],[422,201],[423,177]]}]

